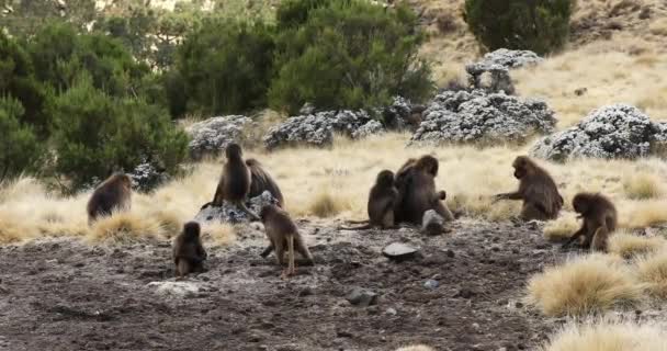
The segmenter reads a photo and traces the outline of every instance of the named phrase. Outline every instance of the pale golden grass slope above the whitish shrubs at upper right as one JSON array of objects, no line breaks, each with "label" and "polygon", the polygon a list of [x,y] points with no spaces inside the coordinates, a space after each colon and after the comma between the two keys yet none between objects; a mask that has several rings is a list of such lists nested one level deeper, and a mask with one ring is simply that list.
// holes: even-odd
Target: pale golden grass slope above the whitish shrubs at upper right
[{"label": "pale golden grass slope above the whitish shrubs at upper right", "polygon": [[[590,111],[612,103],[636,105],[653,118],[667,115],[663,99],[667,56],[658,45],[629,33],[547,58],[543,64],[512,71],[517,91],[540,97],[555,110],[561,128]],[[629,69],[618,69],[626,67]],[[577,97],[575,90],[587,88]]]}]

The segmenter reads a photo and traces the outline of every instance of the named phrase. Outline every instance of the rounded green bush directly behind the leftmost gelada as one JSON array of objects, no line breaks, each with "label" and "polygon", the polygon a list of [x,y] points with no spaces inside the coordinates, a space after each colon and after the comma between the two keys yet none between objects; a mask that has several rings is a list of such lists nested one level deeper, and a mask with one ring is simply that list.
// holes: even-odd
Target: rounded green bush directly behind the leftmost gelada
[{"label": "rounded green bush directly behind the leftmost gelada", "polygon": [[75,188],[145,162],[173,174],[185,157],[188,138],[163,110],[144,100],[112,97],[95,89],[87,76],[55,100],[53,114],[55,171]]}]

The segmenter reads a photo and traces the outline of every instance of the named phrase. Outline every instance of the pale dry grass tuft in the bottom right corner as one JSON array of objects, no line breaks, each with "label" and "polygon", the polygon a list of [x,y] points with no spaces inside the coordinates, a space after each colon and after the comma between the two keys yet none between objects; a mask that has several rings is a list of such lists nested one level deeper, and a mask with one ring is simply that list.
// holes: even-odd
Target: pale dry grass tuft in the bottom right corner
[{"label": "pale dry grass tuft in the bottom right corner", "polygon": [[667,333],[658,326],[632,321],[570,322],[542,351],[665,351]]}]

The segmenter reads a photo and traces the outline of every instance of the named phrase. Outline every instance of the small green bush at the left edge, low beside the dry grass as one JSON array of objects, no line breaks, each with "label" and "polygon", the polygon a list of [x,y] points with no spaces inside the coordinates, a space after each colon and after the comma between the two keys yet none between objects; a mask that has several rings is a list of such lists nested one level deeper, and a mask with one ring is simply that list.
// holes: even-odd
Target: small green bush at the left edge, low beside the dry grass
[{"label": "small green bush at the left edge, low beside the dry grass", "polygon": [[33,129],[20,120],[24,110],[11,98],[0,98],[0,182],[36,169],[42,149]]}]

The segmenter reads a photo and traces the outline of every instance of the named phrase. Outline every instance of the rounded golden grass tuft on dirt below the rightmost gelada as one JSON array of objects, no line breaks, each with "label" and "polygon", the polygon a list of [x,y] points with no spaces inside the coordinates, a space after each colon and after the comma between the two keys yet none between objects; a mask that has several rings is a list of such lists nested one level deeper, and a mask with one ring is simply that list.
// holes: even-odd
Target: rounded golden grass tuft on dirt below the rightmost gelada
[{"label": "rounded golden grass tuft on dirt below the rightmost gelada", "polygon": [[633,305],[643,285],[618,260],[604,254],[577,257],[551,267],[528,284],[528,299],[547,316],[585,315]]}]

